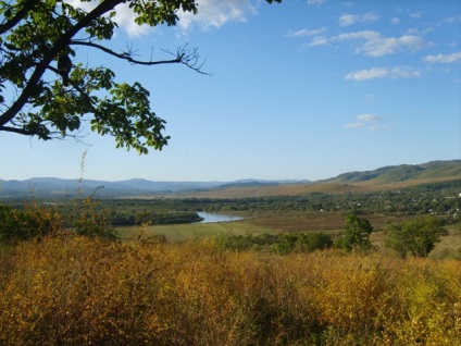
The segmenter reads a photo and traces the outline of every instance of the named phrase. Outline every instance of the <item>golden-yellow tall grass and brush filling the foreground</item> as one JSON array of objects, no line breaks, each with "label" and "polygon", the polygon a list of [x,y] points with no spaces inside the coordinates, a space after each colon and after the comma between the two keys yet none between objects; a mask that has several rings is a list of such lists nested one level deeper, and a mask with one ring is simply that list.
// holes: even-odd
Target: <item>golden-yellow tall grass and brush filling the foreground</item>
[{"label": "golden-yellow tall grass and brush filling the foreground", "polygon": [[0,248],[1,345],[460,345],[461,262],[45,237]]}]

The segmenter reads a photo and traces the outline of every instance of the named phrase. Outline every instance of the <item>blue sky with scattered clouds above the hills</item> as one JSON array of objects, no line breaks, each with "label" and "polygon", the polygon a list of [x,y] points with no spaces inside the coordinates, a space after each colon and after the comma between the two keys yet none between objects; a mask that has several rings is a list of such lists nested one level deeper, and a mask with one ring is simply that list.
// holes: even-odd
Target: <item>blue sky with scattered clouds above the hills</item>
[{"label": "blue sky with scattered clouds above the hills", "polygon": [[163,60],[187,44],[210,75],[88,51],[74,61],[150,91],[171,136],[162,151],[116,149],[88,127],[84,144],[0,133],[0,178],[316,181],[461,159],[461,1],[197,2],[175,27],[139,27],[119,8],[107,45]]}]

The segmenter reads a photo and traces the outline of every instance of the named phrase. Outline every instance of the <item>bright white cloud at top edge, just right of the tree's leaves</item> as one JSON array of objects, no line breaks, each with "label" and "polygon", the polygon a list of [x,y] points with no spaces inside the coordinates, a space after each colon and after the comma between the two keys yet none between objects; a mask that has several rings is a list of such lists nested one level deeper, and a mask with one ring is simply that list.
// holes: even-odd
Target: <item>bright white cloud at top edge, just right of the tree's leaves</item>
[{"label": "bright white cloud at top edge, just right of the tree's leaves", "polygon": [[178,12],[179,27],[189,29],[198,24],[202,29],[220,28],[227,22],[246,22],[247,14],[254,14],[256,7],[250,0],[199,0],[198,13]]}]

